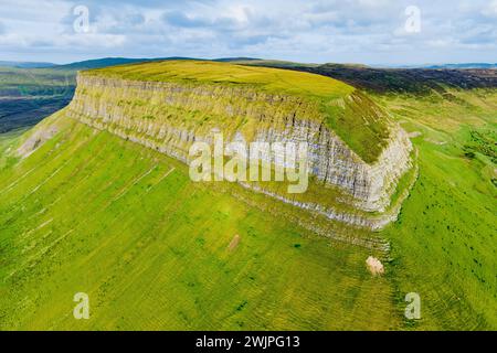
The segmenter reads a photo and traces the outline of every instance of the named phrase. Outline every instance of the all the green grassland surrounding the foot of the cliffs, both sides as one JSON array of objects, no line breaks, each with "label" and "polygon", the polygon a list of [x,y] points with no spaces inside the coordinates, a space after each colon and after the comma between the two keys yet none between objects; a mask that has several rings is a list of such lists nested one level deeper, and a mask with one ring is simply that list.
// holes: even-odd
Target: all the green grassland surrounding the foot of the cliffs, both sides
[{"label": "all the green grassland surrounding the foot of the cliffs, both sides", "polygon": [[[60,131],[28,158],[7,150],[30,132],[0,137],[0,329],[496,330],[497,93],[450,92],[373,97],[419,150],[399,221],[369,234],[385,253],[311,234],[298,210],[246,191],[255,207],[236,185],[194,184],[64,111],[36,127]],[[73,318],[76,292],[89,320]],[[403,317],[408,292],[421,320]]]}]

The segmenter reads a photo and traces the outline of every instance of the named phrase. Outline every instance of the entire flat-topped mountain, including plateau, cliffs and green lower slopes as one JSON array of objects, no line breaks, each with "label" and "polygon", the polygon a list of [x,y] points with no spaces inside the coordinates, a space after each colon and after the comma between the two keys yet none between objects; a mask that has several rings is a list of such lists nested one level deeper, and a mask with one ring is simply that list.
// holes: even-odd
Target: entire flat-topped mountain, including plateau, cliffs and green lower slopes
[{"label": "entire flat-topped mountain, including plateau, cliffs and green lower slopes", "polygon": [[[66,108],[0,136],[0,329],[495,328],[495,90],[379,95],[360,77],[80,73]],[[307,142],[308,189],[194,181],[190,148],[220,132]]]}]

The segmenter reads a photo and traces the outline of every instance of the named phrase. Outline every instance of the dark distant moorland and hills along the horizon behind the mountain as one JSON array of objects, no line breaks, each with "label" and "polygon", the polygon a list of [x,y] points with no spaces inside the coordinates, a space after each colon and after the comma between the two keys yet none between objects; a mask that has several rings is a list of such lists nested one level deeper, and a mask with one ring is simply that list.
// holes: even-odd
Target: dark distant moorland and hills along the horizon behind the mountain
[{"label": "dark distant moorland and hills along the horizon behind the mountain", "polygon": [[[65,106],[74,93],[78,71],[182,58],[187,57],[104,57],[64,65],[0,61],[0,67],[8,66],[0,69],[2,74],[0,98],[9,97],[9,100],[2,100],[0,105],[0,133],[34,125],[45,116]],[[330,63],[321,65],[253,57],[195,60],[303,71],[342,81],[356,88],[373,93],[431,95],[434,92],[437,94],[446,93],[447,87],[459,89],[497,87],[497,69],[495,67],[469,68],[477,65],[490,67],[497,64],[448,64],[452,66],[445,68],[441,65],[434,66],[434,68],[427,66],[379,68],[361,64]],[[15,97],[15,99],[12,99],[12,97]]]}]

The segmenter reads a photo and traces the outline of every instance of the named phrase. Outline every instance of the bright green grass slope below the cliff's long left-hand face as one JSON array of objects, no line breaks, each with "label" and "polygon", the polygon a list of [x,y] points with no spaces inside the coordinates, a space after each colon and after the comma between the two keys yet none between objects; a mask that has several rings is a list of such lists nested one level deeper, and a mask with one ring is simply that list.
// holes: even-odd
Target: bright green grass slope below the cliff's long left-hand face
[{"label": "bright green grass slope below the cliff's long left-hand face", "polygon": [[[0,329],[401,323],[388,277],[366,268],[370,252],[247,205],[231,195],[240,186],[194,184],[183,164],[63,111],[36,129],[53,125],[34,153],[0,164]],[[89,295],[89,320],[73,318],[76,292]]]}]

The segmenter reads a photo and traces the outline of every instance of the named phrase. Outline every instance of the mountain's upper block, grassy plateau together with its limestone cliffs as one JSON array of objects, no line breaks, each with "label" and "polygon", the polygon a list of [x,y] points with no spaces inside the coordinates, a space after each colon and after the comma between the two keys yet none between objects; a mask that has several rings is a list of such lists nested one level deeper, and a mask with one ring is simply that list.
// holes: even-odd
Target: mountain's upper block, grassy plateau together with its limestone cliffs
[{"label": "mountain's upper block, grassy plateau together with its limestone cliffs", "polygon": [[194,141],[212,143],[213,130],[226,143],[307,142],[306,193],[288,195],[269,182],[241,184],[373,229],[395,220],[406,195],[398,183],[413,167],[406,133],[380,107],[347,84],[309,73],[200,61],[114,66],[80,73],[65,111],[186,163]]}]

